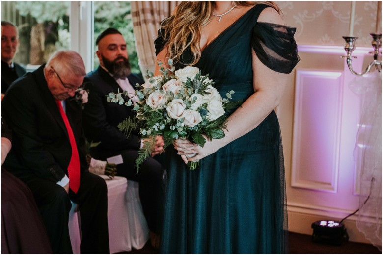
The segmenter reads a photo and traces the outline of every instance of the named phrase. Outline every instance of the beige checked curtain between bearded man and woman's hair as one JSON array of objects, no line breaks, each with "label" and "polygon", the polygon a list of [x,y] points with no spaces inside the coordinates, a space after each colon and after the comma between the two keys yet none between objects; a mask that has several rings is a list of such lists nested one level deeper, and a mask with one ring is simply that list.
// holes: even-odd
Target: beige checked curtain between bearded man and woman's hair
[{"label": "beige checked curtain between bearded man and woman's hair", "polygon": [[133,32],[136,37],[137,56],[142,75],[154,71],[156,54],[154,40],[160,22],[167,18],[179,1],[132,1]]}]

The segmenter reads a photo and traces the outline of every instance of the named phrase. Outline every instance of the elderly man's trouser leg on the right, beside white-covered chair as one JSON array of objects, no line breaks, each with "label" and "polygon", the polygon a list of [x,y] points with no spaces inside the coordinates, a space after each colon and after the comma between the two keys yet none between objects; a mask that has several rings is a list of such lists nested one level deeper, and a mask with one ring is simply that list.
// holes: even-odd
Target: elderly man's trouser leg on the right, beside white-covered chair
[{"label": "elderly man's trouser leg on the right, beside white-covered chair", "polygon": [[80,208],[81,253],[110,253],[107,192],[105,180],[89,172],[81,174],[77,194],[70,191],[70,197]]}]

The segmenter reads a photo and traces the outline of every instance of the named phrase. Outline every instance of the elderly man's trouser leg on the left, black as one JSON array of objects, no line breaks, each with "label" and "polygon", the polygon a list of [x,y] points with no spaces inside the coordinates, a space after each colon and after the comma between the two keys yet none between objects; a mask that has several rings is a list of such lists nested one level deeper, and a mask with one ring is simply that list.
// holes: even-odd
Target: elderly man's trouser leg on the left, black
[{"label": "elderly man's trouser leg on the left, black", "polygon": [[47,229],[53,253],[73,253],[68,220],[71,202],[65,189],[52,181],[28,178],[27,186],[33,193]]}]

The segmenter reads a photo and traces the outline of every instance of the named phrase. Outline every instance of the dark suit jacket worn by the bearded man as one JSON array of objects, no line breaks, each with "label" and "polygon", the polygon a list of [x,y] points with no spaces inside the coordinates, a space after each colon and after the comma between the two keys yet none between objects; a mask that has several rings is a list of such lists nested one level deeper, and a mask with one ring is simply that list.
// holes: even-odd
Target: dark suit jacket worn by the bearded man
[{"label": "dark suit jacket worn by the bearded man", "polygon": [[[133,106],[107,102],[106,95],[123,90],[113,77],[102,67],[98,67],[86,76],[92,84],[88,86],[88,102],[84,104],[83,128],[89,142],[101,142],[97,150],[120,151],[124,149],[139,149],[141,138],[137,130],[129,137],[121,132],[117,126],[128,117],[135,118]],[[130,84],[136,89],[136,83],[143,84],[141,77],[135,74],[127,76]],[[127,98],[125,101],[127,101]]]}]

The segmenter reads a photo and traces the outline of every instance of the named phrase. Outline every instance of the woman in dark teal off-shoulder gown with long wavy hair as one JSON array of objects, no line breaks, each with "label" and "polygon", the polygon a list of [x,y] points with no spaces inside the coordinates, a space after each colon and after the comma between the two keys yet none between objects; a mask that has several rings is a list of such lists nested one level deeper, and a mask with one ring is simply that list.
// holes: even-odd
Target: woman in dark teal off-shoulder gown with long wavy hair
[{"label": "woman in dark teal off-shoulder gown with long wavy hair", "polygon": [[[237,6],[218,21],[211,14],[231,9],[227,3]],[[215,81],[222,97],[234,90],[233,100],[244,103],[230,113],[225,138],[208,141],[204,148],[177,140],[166,149],[161,253],[287,252],[285,174],[274,108],[299,56],[295,28],[279,25],[277,6],[270,5],[183,2],[173,13],[180,20],[170,16],[162,23],[155,41],[159,60],[165,63],[170,55],[176,70],[198,67]],[[186,21],[183,11],[198,8],[201,13],[184,26],[194,26],[205,10],[211,16],[201,26],[199,41],[187,36],[200,45],[199,59],[193,45],[177,59],[168,53],[174,49],[169,24]],[[195,160],[200,165],[190,170],[185,163]]]}]

